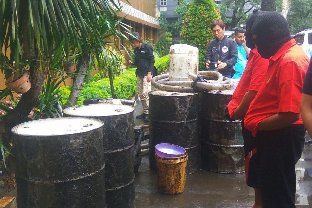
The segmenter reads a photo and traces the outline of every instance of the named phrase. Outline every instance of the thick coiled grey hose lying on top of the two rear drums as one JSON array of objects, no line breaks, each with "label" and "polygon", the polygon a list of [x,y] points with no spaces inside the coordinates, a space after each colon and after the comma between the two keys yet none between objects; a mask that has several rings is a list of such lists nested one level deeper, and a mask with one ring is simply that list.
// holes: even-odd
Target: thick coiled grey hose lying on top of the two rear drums
[{"label": "thick coiled grey hose lying on top of the two rear drums", "polygon": [[197,76],[188,72],[187,77],[193,81],[169,81],[169,73],[162,74],[153,77],[151,84],[158,89],[171,92],[194,92],[195,83],[197,91],[234,89],[231,79],[223,77],[220,72],[199,71],[198,74]]}]

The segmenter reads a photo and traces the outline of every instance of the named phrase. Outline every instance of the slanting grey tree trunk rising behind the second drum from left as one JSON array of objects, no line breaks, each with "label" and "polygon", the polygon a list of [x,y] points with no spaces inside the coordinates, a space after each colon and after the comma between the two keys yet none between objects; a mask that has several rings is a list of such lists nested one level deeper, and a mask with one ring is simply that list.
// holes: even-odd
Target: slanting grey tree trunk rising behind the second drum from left
[{"label": "slanting grey tree trunk rising behind the second drum from left", "polygon": [[85,79],[85,73],[87,72],[89,67],[89,60],[90,54],[85,54],[79,59],[76,72],[77,75],[74,76],[72,86],[73,89],[71,90],[71,94],[69,95],[68,101],[65,104],[65,108],[76,105],[81,91],[77,89],[82,89],[83,82]]}]

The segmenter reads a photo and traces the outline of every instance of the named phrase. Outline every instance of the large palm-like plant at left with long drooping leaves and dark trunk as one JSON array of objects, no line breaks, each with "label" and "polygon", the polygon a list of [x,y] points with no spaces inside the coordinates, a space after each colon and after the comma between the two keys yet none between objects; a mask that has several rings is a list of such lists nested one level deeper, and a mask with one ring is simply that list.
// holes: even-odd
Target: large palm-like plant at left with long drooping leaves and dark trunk
[{"label": "large palm-like plant at left with long drooping leaves and dark trunk", "polygon": [[113,35],[125,37],[117,30],[120,22],[111,5],[120,8],[114,0],[0,0],[0,68],[6,78],[27,70],[32,84],[0,121],[3,144],[11,139],[14,125],[27,121],[46,73],[57,62],[80,53],[80,65],[87,68],[94,55],[105,59],[105,45],[115,43]]}]

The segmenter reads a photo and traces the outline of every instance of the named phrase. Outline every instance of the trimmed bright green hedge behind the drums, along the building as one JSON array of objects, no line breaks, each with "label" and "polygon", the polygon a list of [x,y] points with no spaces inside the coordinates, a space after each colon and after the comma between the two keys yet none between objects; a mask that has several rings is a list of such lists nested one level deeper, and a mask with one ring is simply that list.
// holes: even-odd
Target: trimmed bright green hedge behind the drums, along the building
[{"label": "trimmed bright green hedge behind the drums, along the building", "polygon": [[[165,70],[169,66],[169,55],[163,56],[155,60],[155,66],[158,73]],[[137,78],[135,76],[136,68],[129,68],[126,72],[115,77],[113,83],[115,88],[115,95],[118,99],[129,99],[137,92]],[[77,105],[83,105],[83,101],[87,98],[111,98],[110,79],[104,78],[101,80],[98,75],[95,75],[93,82],[87,83],[83,86],[78,97]],[[71,93],[71,86],[61,86],[60,96],[68,98]],[[64,103],[66,100],[64,99]]]}]

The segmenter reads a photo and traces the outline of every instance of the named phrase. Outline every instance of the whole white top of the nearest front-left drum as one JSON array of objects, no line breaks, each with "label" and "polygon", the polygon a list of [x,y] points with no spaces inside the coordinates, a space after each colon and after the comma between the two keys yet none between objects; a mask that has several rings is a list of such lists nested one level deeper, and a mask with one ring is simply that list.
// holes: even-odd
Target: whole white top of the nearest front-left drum
[{"label": "whole white top of the nearest front-left drum", "polygon": [[88,132],[104,123],[98,119],[66,117],[29,121],[12,128],[12,133],[24,136],[58,136]]}]

